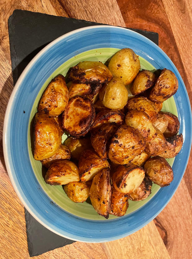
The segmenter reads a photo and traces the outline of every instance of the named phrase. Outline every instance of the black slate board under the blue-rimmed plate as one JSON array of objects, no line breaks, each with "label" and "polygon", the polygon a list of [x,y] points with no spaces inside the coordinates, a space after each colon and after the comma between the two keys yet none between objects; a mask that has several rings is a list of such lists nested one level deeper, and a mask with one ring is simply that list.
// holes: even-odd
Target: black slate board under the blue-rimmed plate
[{"label": "black slate board under the blue-rimmed plate", "polygon": [[[100,24],[61,16],[15,10],[8,20],[14,85],[31,59],[48,43],[67,32],[91,25]],[[158,33],[137,29],[131,30],[144,35],[158,45]],[[56,235],[43,227],[26,209],[25,219],[28,251],[31,257],[75,242]]]}]

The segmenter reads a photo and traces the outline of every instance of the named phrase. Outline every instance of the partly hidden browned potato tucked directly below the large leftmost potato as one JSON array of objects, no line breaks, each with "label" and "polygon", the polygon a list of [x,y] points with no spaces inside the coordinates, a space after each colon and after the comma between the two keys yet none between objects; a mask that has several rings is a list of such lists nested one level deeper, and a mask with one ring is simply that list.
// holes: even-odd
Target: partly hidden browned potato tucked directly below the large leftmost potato
[{"label": "partly hidden browned potato tucked directly below the large leftmost potato", "polygon": [[59,149],[57,149],[56,153],[52,157],[41,160],[41,163],[43,166],[48,168],[52,162],[70,158],[71,152],[68,147],[66,145],[60,145]]}]

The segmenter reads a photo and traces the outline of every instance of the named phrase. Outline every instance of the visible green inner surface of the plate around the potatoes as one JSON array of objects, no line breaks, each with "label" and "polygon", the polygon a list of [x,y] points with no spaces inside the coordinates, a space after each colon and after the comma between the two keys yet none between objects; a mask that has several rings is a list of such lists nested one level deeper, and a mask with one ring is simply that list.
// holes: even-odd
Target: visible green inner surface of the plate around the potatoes
[{"label": "visible green inner surface of the plate around the potatoes", "polygon": [[[42,176],[42,173],[44,172],[44,168],[41,165],[40,161],[36,161],[33,158],[32,148],[31,148],[31,136],[30,136],[30,125],[31,121],[33,120],[33,117],[35,113],[37,112],[37,105],[41,98],[42,93],[44,92],[45,88],[49,84],[49,82],[58,74],[62,74],[63,76],[66,76],[68,70],[70,67],[75,66],[80,61],[90,60],[90,61],[101,61],[105,63],[113,54],[115,54],[119,49],[114,48],[103,48],[103,49],[94,49],[89,50],[86,52],[83,52],[81,54],[76,55],[75,57],[69,59],[67,62],[63,63],[55,72],[46,80],[44,85],[42,85],[41,90],[39,91],[37,98],[34,102],[33,109],[31,111],[30,119],[29,119],[29,125],[28,125],[28,152],[29,152],[29,158],[31,161],[31,165],[33,167],[34,174],[37,177],[37,180],[41,184],[41,187],[46,192],[46,194],[61,208],[68,211],[69,213],[72,213],[76,216],[87,218],[87,219],[93,219],[93,220],[105,220],[105,218],[99,216],[97,212],[94,210],[93,206],[91,205],[91,201],[88,198],[87,201],[83,203],[75,203],[71,201],[68,196],[65,194],[62,186],[51,186],[49,184],[46,184],[44,181],[44,178]],[[141,63],[141,69],[147,69],[151,71],[155,71],[155,67],[153,67],[149,62],[147,62],[144,58],[139,57],[140,63]],[[171,97],[167,101],[164,101],[163,103],[163,111],[171,112],[175,115],[177,115],[177,108],[174,101],[174,98]],[[66,135],[63,135],[62,141],[64,141],[67,138]],[[174,162],[174,158],[167,159],[169,164],[172,166]],[[136,209],[139,209],[141,206],[143,206],[146,202],[148,202],[159,190],[159,186],[156,184],[153,184],[151,195],[145,199],[144,201],[130,201],[129,200],[129,208],[127,209],[127,213],[132,213]],[[164,187],[168,188],[168,187]],[[110,215],[109,219],[117,218],[114,215]]]}]

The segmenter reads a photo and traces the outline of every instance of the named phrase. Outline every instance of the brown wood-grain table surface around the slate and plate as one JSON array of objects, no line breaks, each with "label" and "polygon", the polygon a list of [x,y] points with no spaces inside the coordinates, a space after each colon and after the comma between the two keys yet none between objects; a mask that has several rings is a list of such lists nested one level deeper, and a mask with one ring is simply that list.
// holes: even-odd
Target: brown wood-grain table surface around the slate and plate
[{"label": "brown wood-grain table surface around the slate and plate", "polygon": [[[15,9],[73,17],[159,33],[159,46],[179,70],[192,101],[190,0],[2,0],[0,4],[0,258],[29,258],[24,207],[6,172],[3,119],[13,89],[8,18]],[[181,161],[182,162],[182,161]],[[192,156],[165,209],[146,227],[120,240],[76,242],[37,258],[192,258]]]}]

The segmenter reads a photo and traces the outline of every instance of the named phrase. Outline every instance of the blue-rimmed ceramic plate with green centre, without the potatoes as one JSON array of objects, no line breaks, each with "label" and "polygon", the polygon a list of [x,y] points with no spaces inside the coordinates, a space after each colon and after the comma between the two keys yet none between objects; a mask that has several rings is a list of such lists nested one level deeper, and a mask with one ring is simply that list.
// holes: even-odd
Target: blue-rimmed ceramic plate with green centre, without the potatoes
[{"label": "blue-rimmed ceramic plate with green centre, without the potatoes", "polygon": [[[168,160],[174,172],[170,186],[153,185],[144,201],[130,201],[123,217],[99,216],[90,200],[76,204],[62,186],[45,183],[41,162],[33,159],[31,127],[38,101],[52,78],[66,75],[83,60],[106,62],[116,51],[131,48],[139,55],[141,68],[155,71],[164,67],[175,73],[177,93],[164,102],[163,110],[176,114],[183,134],[183,147]],[[3,128],[3,152],[15,192],[28,212],[58,235],[82,242],[107,242],[141,229],[166,206],[176,191],[188,162],[192,119],[189,97],[177,68],[152,41],[131,30],[114,26],[90,26],[69,32],[47,45],[24,69],[11,94]],[[63,136],[63,140],[65,136]]]}]

